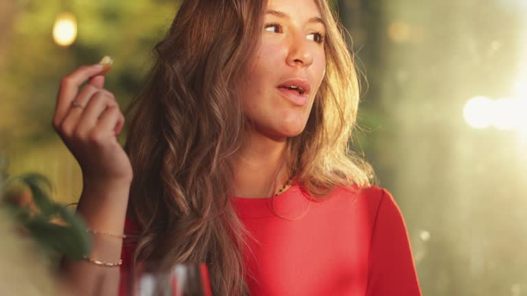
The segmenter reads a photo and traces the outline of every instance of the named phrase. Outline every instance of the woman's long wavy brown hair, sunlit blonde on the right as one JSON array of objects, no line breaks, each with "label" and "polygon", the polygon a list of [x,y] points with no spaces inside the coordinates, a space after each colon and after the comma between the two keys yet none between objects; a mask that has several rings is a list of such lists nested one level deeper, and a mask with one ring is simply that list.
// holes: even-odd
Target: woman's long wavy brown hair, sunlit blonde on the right
[{"label": "woman's long wavy brown hair, sunlit blonde on the right", "polygon": [[[360,86],[344,29],[326,0],[326,75],[305,130],[288,138],[286,168],[316,199],[336,186],[368,186],[371,166],[349,147]],[[248,233],[230,198],[231,160],[244,137],[237,82],[255,53],[266,0],[183,1],[127,117],[134,169],[130,216],[142,229],[134,264],[206,262],[214,295],[247,295]],[[128,115],[130,114],[130,115]]]}]

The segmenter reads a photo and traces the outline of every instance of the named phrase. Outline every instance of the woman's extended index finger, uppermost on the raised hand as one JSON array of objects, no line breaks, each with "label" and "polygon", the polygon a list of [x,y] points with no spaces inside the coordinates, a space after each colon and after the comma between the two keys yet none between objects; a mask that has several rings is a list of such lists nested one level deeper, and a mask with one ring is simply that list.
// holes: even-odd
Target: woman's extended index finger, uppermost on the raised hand
[{"label": "woman's extended index finger, uppermost on the raised hand", "polygon": [[79,69],[62,78],[58,90],[55,116],[53,119],[54,127],[57,128],[65,119],[65,116],[71,107],[71,101],[75,99],[75,96],[78,93],[79,86],[89,79],[89,77],[100,73],[102,70],[103,66],[101,64],[81,66]]}]

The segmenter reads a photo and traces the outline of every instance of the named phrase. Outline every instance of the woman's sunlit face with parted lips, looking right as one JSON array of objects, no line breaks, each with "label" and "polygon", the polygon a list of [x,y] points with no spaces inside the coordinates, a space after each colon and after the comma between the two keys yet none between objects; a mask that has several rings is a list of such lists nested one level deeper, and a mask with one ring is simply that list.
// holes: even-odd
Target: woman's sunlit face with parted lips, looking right
[{"label": "woman's sunlit face with parted lips, looking right", "polygon": [[268,0],[261,34],[242,85],[244,114],[255,132],[297,136],[325,75],[325,25],[314,0]]}]

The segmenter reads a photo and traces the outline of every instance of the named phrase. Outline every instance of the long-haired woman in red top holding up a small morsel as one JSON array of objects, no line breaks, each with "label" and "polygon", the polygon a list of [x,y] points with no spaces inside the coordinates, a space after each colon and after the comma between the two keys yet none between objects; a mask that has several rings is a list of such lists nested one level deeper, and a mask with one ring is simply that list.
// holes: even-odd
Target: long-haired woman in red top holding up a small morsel
[{"label": "long-haired woman in red top holding up a small morsel", "polygon": [[206,262],[214,295],[420,295],[401,212],[348,148],[359,86],[335,19],[325,0],[183,1],[124,150],[102,69],[63,79],[54,126],[95,239],[65,262],[75,288],[115,295],[122,258]]}]

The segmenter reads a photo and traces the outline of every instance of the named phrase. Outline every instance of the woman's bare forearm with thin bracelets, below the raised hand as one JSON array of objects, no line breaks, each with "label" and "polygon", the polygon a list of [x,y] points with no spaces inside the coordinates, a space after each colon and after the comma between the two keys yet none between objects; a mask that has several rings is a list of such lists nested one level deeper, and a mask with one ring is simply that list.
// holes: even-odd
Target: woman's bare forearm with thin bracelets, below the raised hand
[{"label": "woman's bare forearm with thin bracelets, below the raised hand", "polygon": [[[123,234],[130,183],[94,184],[84,182],[78,213],[86,225],[98,232]],[[117,263],[121,258],[122,238],[93,234],[89,258]],[[63,260],[61,277],[74,295],[115,296],[119,290],[119,267],[104,267],[82,260]]]}]

